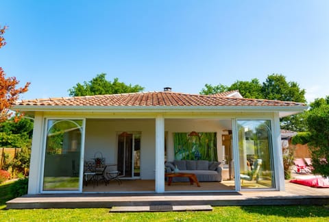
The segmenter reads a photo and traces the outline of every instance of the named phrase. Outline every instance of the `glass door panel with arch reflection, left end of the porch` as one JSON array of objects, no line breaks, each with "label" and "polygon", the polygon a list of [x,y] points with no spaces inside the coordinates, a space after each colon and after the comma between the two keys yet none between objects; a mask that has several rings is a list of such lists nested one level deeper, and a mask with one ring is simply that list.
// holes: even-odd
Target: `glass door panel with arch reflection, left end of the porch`
[{"label": "glass door panel with arch reflection, left end of the porch", "polygon": [[79,190],[82,120],[47,121],[42,190]]}]

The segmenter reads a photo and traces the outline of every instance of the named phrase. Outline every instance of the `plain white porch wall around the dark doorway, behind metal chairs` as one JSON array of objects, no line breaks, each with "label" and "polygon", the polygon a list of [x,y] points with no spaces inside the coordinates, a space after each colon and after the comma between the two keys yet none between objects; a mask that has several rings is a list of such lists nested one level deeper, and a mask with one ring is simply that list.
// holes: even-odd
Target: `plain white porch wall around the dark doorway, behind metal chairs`
[{"label": "plain white porch wall around the dark doorway, behind metal chairs", "polygon": [[141,132],[141,179],[155,177],[155,119],[87,119],[84,159],[94,158],[97,151],[106,163],[117,163],[117,133]]}]

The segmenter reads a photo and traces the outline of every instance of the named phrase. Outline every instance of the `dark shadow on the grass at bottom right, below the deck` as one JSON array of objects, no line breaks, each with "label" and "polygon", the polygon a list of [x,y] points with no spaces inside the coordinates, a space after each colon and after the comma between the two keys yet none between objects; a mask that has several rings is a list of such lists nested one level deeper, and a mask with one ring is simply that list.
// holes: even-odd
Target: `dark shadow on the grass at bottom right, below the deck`
[{"label": "dark shadow on the grass at bottom right, below the deck", "polygon": [[329,205],[325,206],[242,206],[247,213],[278,217],[329,217]]}]

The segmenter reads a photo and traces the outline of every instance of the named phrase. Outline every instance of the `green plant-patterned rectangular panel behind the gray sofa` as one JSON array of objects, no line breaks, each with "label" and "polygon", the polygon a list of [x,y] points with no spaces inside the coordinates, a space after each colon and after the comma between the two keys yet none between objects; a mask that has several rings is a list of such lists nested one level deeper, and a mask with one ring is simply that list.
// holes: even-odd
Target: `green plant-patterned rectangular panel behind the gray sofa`
[{"label": "green plant-patterned rectangular panel behind the gray sofa", "polygon": [[188,136],[186,132],[173,133],[175,160],[217,161],[216,132],[199,132]]}]

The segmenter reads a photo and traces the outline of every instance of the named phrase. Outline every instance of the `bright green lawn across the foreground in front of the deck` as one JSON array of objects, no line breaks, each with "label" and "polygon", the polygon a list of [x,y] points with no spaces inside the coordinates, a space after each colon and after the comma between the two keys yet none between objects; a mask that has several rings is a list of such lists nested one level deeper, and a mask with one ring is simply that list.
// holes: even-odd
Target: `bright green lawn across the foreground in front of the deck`
[{"label": "bright green lawn across the foreground in front of the deck", "polygon": [[0,221],[329,221],[329,206],[234,206],[211,212],[109,213],[107,208],[5,210],[10,184],[0,185]]}]

